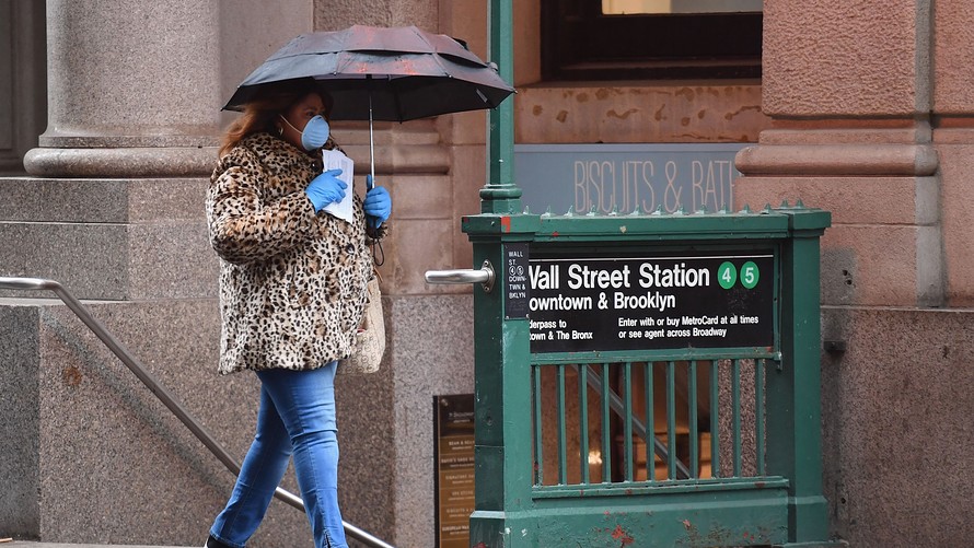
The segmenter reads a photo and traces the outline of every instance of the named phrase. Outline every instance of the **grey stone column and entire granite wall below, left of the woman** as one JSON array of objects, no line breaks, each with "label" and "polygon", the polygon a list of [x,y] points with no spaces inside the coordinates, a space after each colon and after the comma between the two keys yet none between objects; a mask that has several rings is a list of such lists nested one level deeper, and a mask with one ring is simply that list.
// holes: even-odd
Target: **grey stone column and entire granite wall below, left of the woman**
[{"label": "grey stone column and entire granite wall below, left of the woman", "polygon": [[[221,59],[263,60],[305,30],[292,24],[310,21],[305,3],[48,0],[48,127],[32,176],[0,177],[0,276],[61,282],[237,460],[259,386],[216,372],[204,198]],[[225,57],[224,32],[239,40]],[[16,392],[0,396],[0,438],[16,442],[0,447],[0,530],[199,546],[233,475],[67,306],[0,291],[0,355]],[[285,487],[298,491],[293,476]],[[248,546],[309,544],[303,512],[278,502]]]}]

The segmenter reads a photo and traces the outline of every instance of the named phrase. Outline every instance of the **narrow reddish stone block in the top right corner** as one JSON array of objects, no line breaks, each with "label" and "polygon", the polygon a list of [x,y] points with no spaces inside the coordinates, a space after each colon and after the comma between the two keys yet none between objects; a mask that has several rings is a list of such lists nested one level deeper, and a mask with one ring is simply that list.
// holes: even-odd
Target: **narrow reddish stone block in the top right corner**
[{"label": "narrow reddish stone block in the top right corner", "polygon": [[974,72],[966,68],[974,50],[974,3],[937,2],[934,26],[934,110],[938,115],[970,115],[974,112]]}]

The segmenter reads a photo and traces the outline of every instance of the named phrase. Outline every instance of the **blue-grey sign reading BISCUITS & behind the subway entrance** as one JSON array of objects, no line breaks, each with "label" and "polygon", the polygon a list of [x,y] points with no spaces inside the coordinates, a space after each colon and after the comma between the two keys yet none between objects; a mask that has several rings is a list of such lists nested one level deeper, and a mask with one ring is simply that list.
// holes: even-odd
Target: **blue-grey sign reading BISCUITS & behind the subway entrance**
[{"label": "blue-grey sign reading BISCUITS & behind the subway entrance", "polygon": [[732,210],[734,156],[747,145],[517,144],[514,180],[534,213]]}]

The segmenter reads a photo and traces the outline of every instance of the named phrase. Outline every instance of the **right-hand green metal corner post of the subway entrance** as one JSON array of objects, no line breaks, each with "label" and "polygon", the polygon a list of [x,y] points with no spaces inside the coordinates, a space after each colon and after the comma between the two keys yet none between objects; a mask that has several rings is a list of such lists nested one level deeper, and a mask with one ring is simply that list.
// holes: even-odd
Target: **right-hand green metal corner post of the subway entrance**
[{"label": "right-hand green metal corner post of the subway entrance", "polygon": [[820,546],[828,538],[822,493],[821,327],[819,237],[826,211],[782,210],[791,237],[782,243],[781,368],[768,372],[767,470],[789,478],[789,543]]}]

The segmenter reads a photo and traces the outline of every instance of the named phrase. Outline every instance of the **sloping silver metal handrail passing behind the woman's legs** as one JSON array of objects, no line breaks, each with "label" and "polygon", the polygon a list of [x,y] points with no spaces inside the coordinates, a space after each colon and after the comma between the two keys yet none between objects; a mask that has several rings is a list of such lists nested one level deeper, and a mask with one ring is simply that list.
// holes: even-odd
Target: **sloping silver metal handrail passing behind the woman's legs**
[{"label": "sloping silver metal handrail passing behind the woman's legs", "polygon": [[[240,464],[230,456],[230,453],[217,442],[212,435],[199,423],[199,421],[194,418],[189,411],[179,404],[176,398],[170,394],[170,392],[162,386],[155,377],[146,371],[146,368],[136,359],[123,345],[118,341],[105,326],[98,322],[94,316],[88,312],[88,308],[81,304],[74,295],[71,294],[63,285],[54,281],[54,280],[45,280],[42,278],[5,278],[0,277],[0,289],[9,289],[9,290],[20,290],[20,291],[53,291],[58,298],[68,305],[69,308],[78,316],[84,325],[88,326],[89,329],[100,339],[102,342],[108,347],[109,350],[119,359],[121,363],[124,363],[135,375],[149,388],[155,397],[159,398],[160,401],[169,408],[179,421],[193,432],[196,438],[202,442],[204,445],[210,453],[212,453],[223,466],[227,467],[234,476],[240,476]],[[304,501],[301,500],[297,494],[287,491],[280,487],[278,487],[274,495],[286,502],[287,504],[294,506],[298,510],[304,511]],[[351,538],[363,543],[369,548],[395,548],[389,543],[373,536],[372,534],[356,527],[355,525],[343,520],[341,525],[345,527],[345,533]]]}]

